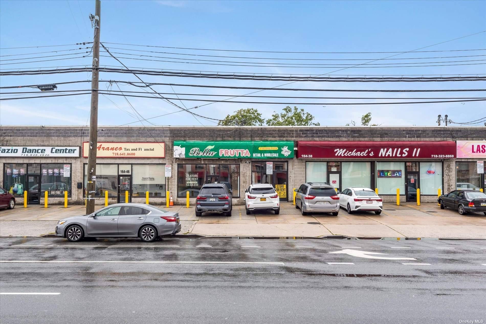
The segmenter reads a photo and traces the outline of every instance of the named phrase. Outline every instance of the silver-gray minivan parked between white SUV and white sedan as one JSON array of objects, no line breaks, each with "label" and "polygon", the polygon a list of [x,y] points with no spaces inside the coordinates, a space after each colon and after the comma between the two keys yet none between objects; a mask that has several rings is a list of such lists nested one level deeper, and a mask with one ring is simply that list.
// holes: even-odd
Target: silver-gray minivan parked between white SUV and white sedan
[{"label": "silver-gray minivan parked between white SUV and white sedan", "polygon": [[300,208],[302,215],[310,212],[339,213],[339,196],[328,182],[308,182],[296,190],[295,208]]}]

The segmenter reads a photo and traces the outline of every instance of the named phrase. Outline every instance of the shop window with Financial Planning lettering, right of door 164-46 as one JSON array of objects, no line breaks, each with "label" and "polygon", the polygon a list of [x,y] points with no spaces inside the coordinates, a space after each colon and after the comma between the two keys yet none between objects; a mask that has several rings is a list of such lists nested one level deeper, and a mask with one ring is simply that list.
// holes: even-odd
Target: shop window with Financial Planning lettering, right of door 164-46
[{"label": "shop window with Financial Planning lettering, right of door 164-46", "polygon": [[165,197],[165,165],[134,164],[132,165],[132,196]]}]

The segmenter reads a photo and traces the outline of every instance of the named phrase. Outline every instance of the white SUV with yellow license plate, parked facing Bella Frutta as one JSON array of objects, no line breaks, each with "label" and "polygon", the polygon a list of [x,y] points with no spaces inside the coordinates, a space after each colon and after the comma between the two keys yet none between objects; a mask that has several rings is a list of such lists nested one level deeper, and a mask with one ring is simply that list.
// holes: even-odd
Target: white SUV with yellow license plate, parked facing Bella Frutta
[{"label": "white SUV with yellow license plate, parked facing Bella Frutta", "polygon": [[278,193],[268,184],[254,184],[245,190],[246,215],[256,210],[273,210],[275,215],[280,213],[280,199]]}]

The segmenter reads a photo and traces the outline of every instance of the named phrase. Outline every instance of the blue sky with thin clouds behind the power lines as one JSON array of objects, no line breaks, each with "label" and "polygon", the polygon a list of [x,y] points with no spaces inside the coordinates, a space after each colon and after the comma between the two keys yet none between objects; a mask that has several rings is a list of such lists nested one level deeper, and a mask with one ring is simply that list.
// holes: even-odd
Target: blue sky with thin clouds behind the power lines
[{"label": "blue sky with thin clouds behind the power lines", "polygon": [[[59,1],[0,1],[0,47],[28,47],[45,45],[74,44],[92,41],[93,32],[88,15],[94,13],[92,0]],[[486,30],[486,1],[184,1],[184,0],[145,0],[145,1],[102,1],[102,42],[154,45],[167,47],[186,47],[202,49],[229,49],[248,51],[411,51],[442,41]],[[244,62],[284,62],[275,58],[319,58],[319,59],[381,59],[393,54],[301,54],[301,53],[251,53],[230,51],[194,51],[182,49],[144,48],[128,45],[105,44],[112,52],[137,53],[129,50],[172,52],[162,54],[139,52],[145,55],[165,57],[193,57],[196,59],[244,61]],[[86,47],[86,46],[84,46]],[[122,48],[124,50],[113,49]],[[45,47],[29,49],[3,49],[0,55],[15,55],[41,51],[71,50],[77,46]],[[481,60],[486,56],[463,58],[434,58],[406,60],[417,57],[443,57],[459,55],[486,55],[486,51],[447,51],[465,49],[486,49],[486,33],[436,45],[424,51],[446,51],[428,53],[405,53],[388,60],[387,63],[436,62]],[[47,56],[62,53],[83,52],[64,51],[58,53],[32,54],[24,56],[2,56],[3,60]],[[224,55],[241,57],[261,57],[264,59],[211,58],[184,56],[186,54]],[[102,53],[102,55],[107,55]],[[114,54],[119,57],[142,58],[134,55]],[[76,55],[71,55],[76,56]],[[81,55],[78,55],[81,56]],[[63,58],[37,58],[23,61]],[[150,57],[144,57],[152,59]],[[155,58],[156,60],[169,60]],[[324,74],[338,68],[285,68],[285,67],[244,67],[220,66],[188,63],[154,62],[120,58],[128,67],[221,71],[264,74]],[[22,60],[3,61],[15,63],[1,65],[5,68],[42,68],[77,66],[91,64],[91,57],[32,62],[20,64]],[[174,61],[174,59],[173,59]],[[187,60],[185,62],[188,62]],[[366,61],[325,61],[325,63],[345,64]],[[463,62],[485,63],[486,61]],[[101,65],[119,66],[111,57],[100,58]],[[323,63],[312,61],[311,63]],[[381,63],[381,62],[374,62]],[[231,63],[229,63],[231,64]],[[452,64],[452,63],[451,63]],[[461,63],[458,63],[461,64]],[[424,64],[425,65],[425,64]],[[485,74],[486,65],[461,65],[445,67],[415,68],[347,68],[332,74],[345,75],[402,75],[402,74]],[[274,87],[282,81],[253,80],[215,80],[206,78],[183,78],[173,76],[140,75],[145,82]],[[0,77],[1,86],[60,83],[66,81],[90,80],[90,74],[67,73],[35,76]],[[134,75],[120,73],[101,73],[101,80],[138,81]],[[107,89],[107,83],[100,83]],[[143,91],[137,87],[119,84],[123,91]],[[486,88],[486,82],[431,82],[431,83],[318,83],[297,82],[285,87],[320,89],[468,89]],[[83,90],[89,84],[59,85],[58,90]],[[112,85],[112,90],[118,90]],[[185,94],[243,95],[252,90],[195,88],[167,85],[154,86],[159,92]],[[30,91],[21,89],[14,91]],[[3,90],[6,92],[7,90]],[[253,90],[255,91],[255,90]],[[12,92],[12,91],[9,91]],[[320,97],[393,97],[410,99],[415,97],[485,97],[486,92],[442,92],[442,93],[376,93],[376,92],[304,92],[265,90],[255,95],[268,96],[320,96]],[[7,98],[8,95],[2,96]],[[165,95],[174,97],[175,95]],[[140,124],[128,102],[120,96],[100,96],[99,124],[121,125]],[[201,96],[180,96],[185,98],[204,98]],[[222,100],[229,97],[209,97]],[[204,99],[208,99],[205,97]],[[128,98],[143,118],[172,113],[178,108],[156,99]],[[380,102],[379,100],[340,100],[340,99],[278,99],[247,98],[233,99],[261,102]],[[381,102],[390,102],[387,100]],[[399,100],[395,100],[399,101]],[[404,100],[409,101],[409,100]],[[84,125],[89,114],[89,95],[57,98],[11,100],[0,102],[1,124],[43,124],[43,125]],[[175,100],[181,105],[181,102]],[[187,108],[208,102],[184,101]],[[281,111],[287,104],[246,104],[216,102],[193,109],[197,114],[212,118],[224,118],[240,108],[259,109],[265,118],[274,111]],[[294,104],[290,104],[294,105]],[[373,122],[392,125],[435,125],[437,115],[449,115],[458,121],[470,121],[486,116],[484,102],[451,102],[403,105],[305,105],[295,104],[312,113],[321,125],[344,125],[351,119],[359,120],[361,115],[371,112]],[[123,111],[122,111],[123,110]],[[177,112],[165,117],[151,119],[157,125],[214,125],[196,120],[187,112]],[[145,125],[149,125],[145,122]]]}]

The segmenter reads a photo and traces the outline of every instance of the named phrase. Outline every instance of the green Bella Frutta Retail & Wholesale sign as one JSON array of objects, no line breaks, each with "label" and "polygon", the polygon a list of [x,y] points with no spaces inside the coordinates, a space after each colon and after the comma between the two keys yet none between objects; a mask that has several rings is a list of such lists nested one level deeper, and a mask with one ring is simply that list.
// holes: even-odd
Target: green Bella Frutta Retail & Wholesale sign
[{"label": "green Bella Frutta Retail & Wholesale sign", "polygon": [[293,141],[174,141],[175,158],[293,158]]}]

